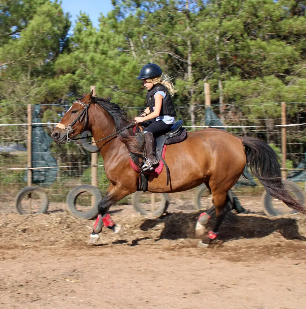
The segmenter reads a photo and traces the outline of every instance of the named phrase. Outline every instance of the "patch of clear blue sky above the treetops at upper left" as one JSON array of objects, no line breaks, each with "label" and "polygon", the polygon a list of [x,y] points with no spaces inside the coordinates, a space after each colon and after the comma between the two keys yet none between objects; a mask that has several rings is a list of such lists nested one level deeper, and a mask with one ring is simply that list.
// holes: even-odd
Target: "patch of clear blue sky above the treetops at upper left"
[{"label": "patch of clear blue sky above the treetops at upper left", "polygon": [[62,0],[62,8],[64,13],[69,12],[72,21],[72,27],[75,24],[77,15],[80,11],[86,12],[90,16],[93,26],[98,28],[100,13],[104,16],[112,10],[111,0]]}]

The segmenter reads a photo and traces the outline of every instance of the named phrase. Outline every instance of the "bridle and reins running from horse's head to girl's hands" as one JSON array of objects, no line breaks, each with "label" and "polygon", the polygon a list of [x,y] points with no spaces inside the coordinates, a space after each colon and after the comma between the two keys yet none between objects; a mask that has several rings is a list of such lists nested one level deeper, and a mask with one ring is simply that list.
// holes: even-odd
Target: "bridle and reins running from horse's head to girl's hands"
[{"label": "bridle and reins running from horse's head to girl's hands", "polygon": [[[72,129],[73,125],[75,125],[75,124],[77,123],[78,120],[79,120],[80,123],[81,123],[81,122],[84,120],[84,118],[85,118],[85,123],[84,123],[84,126],[83,126],[83,129],[82,129],[82,132],[81,132],[81,133],[83,133],[83,132],[85,131],[85,128],[86,128],[86,125],[87,125],[87,121],[88,121],[88,108],[89,108],[90,104],[92,104],[92,102],[90,102],[89,104],[84,104],[83,102],[81,102],[81,101],[79,101],[79,100],[75,100],[75,101],[73,101],[73,103],[79,103],[79,104],[81,104],[81,105],[84,106],[84,108],[83,108],[82,112],[80,113],[80,115],[72,122],[71,125],[68,125],[67,127],[66,127],[65,125],[63,125],[62,123],[58,123],[58,124],[56,125],[56,127],[60,128],[60,129],[64,129],[65,131],[67,131],[67,142],[68,142],[68,143],[73,142],[73,141],[77,141],[77,140],[79,140],[79,139],[84,139],[84,138],[93,137],[92,135],[91,135],[91,136],[88,136],[88,135],[87,135],[86,137],[81,137],[81,138],[69,138],[70,132],[71,132],[71,133],[73,132],[73,129]],[[115,133],[112,133],[111,135],[108,135],[107,137],[101,138],[101,139],[99,139],[99,141],[94,141],[94,142],[97,143],[97,142],[104,141],[104,140],[106,140],[106,139],[108,139],[108,138],[111,138],[111,137],[113,137],[113,136],[115,136],[115,135],[121,133],[122,131],[124,131],[124,130],[130,128],[130,127],[132,127],[134,124],[135,124],[135,121],[133,121],[132,123],[126,125],[124,128],[122,128],[122,129],[116,131]],[[80,134],[81,134],[81,133],[80,133]]]}]

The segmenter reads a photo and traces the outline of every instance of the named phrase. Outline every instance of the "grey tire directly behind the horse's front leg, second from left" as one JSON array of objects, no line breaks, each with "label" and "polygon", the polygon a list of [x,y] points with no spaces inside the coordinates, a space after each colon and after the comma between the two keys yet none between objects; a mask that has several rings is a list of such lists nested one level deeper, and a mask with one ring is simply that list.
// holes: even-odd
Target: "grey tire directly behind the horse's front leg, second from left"
[{"label": "grey tire directly behind the horse's front leg, second from left", "polygon": [[[77,197],[83,192],[91,193],[94,196],[94,200],[95,200],[94,208],[86,212],[79,211],[75,207],[75,201]],[[100,192],[98,188],[91,186],[90,184],[82,184],[80,186],[73,188],[69,192],[69,194],[67,195],[66,203],[67,203],[70,214],[72,214],[74,217],[79,218],[79,219],[90,220],[98,216],[99,214],[98,205],[99,205],[99,201],[101,200],[102,200],[102,193]]]}]

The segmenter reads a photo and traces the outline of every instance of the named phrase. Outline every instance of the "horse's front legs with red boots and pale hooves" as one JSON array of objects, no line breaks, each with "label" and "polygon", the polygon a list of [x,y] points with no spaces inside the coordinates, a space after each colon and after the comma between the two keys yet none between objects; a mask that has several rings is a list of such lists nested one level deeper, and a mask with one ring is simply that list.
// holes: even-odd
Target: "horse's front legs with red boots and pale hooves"
[{"label": "horse's front legs with red boots and pale hooves", "polygon": [[111,219],[111,216],[107,213],[111,205],[115,204],[115,202],[121,200],[126,197],[128,194],[132,192],[126,188],[121,187],[120,185],[111,185],[107,195],[99,202],[98,210],[99,215],[94,223],[94,230],[90,234],[88,243],[96,243],[100,235],[99,233],[102,231],[103,225],[105,227],[111,229],[116,234],[122,235],[121,225],[115,224],[115,222]]}]

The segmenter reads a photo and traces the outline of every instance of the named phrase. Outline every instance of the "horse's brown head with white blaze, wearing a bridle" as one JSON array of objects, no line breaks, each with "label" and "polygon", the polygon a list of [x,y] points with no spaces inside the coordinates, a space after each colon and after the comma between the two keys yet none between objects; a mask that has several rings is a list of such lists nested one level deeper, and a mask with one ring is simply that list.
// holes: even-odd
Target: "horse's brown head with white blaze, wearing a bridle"
[{"label": "horse's brown head with white blaze, wearing a bridle", "polygon": [[61,121],[56,125],[51,137],[57,144],[65,144],[67,138],[73,138],[85,131],[88,127],[88,108],[93,91],[82,99],[73,102]]}]

